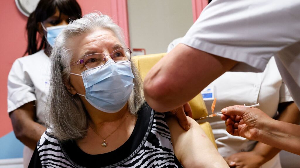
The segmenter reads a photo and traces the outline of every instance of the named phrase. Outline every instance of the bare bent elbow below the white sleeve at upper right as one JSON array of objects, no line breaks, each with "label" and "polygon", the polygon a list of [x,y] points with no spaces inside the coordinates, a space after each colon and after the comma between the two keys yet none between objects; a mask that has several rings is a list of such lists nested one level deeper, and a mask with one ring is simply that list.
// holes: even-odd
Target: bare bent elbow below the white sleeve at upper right
[{"label": "bare bent elbow below the white sleeve at upper right", "polygon": [[176,109],[236,63],[231,59],[179,44],[146,75],[145,99],[158,112]]}]

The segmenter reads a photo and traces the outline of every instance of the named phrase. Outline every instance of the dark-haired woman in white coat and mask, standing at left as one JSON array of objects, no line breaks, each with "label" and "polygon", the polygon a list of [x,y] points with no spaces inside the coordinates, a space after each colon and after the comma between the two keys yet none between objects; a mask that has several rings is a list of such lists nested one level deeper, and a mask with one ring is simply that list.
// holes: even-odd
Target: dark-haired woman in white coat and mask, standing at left
[{"label": "dark-haired woman in white coat and mask, standing at left", "polygon": [[[13,131],[25,148],[24,167],[46,130],[44,111],[49,89],[50,51],[58,33],[70,20],[81,18],[76,0],[41,0],[26,26],[26,54],[16,59],[8,75],[8,113]],[[38,37],[37,37],[38,35]]]}]

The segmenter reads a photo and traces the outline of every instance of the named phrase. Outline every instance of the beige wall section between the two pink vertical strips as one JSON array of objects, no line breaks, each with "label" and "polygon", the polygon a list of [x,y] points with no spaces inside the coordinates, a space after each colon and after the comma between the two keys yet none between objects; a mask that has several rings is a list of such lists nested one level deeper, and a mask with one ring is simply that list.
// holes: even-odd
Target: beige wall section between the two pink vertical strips
[{"label": "beige wall section between the two pink vertical strips", "polygon": [[146,54],[163,53],[193,24],[192,2],[128,0],[128,22],[131,48],[145,48]]}]

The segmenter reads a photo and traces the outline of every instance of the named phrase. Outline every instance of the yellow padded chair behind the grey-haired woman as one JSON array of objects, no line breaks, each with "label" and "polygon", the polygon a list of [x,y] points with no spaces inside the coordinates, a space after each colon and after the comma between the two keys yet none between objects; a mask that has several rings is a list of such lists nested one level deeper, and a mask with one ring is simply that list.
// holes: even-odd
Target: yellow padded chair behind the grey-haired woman
[{"label": "yellow padded chair behind the grey-haired woman", "polygon": [[[137,65],[142,80],[145,79],[146,74],[149,72],[149,70],[166,54],[167,53],[140,55],[140,56],[133,56],[131,58]],[[189,103],[193,111],[193,119],[197,120],[200,117],[205,117],[208,115],[201,94],[198,94],[196,97],[190,100]],[[200,126],[202,127],[202,129],[204,130],[208,138],[211,140],[211,142],[214,144],[214,146],[217,148],[214,135],[212,134],[211,126],[209,125],[209,123],[208,122],[201,123]]]}]

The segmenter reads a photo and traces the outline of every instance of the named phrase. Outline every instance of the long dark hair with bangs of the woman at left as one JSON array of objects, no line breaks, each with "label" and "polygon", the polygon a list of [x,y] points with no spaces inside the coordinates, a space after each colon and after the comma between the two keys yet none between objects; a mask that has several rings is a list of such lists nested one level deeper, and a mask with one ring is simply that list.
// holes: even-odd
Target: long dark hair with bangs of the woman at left
[{"label": "long dark hair with bangs of the woman at left", "polygon": [[[81,8],[76,0],[41,0],[35,11],[29,15],[27,31],[27,49],[24,55],[34,54],[46,47],[46,38],[40,34],[37,37],[38,22],[43,22],[54,15],[56,9],[72,19],[79,19],[82,16]],[[39,45],[39,46],[38,46]]]}]

